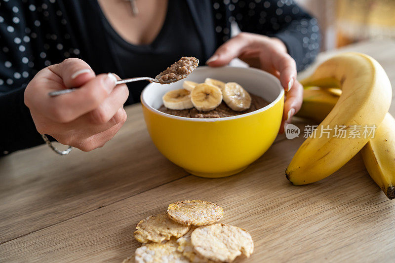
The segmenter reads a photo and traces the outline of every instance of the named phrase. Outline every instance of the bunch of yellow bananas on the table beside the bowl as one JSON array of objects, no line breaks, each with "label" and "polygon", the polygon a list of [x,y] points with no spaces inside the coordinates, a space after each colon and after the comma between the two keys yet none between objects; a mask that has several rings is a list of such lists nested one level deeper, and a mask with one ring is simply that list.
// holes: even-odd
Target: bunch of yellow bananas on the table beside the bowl
[{"label": "bunch of yellow bananas on the table beside the bowl", "polygon": [[[301,82],[305,90],[297,116],[321,123],[316,136],[313,133],[297,150],[286,178],[294,185],[314,183],[361,150],[369,175],[389,199],[395,198],[395,119],[388,113],[392,88],[380,64],[361,53],[343,53]],[[360,138],[338,138],[333,129],[328,136],[317,136],[335,125],[346,130],[353,125],[376,125],[377,129]]]}]

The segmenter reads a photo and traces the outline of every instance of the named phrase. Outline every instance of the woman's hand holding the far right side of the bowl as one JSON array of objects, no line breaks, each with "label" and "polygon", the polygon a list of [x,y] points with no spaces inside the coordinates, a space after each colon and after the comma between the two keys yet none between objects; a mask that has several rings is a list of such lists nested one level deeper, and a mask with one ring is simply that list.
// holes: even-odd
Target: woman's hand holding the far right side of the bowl
[{"label": "woman's hand holding the far right side of the bowl", "polygon": [[243,60],[251,67],[267,71],[280,80],[286,91],[279,131],[283,133],[290,118],[300,110],[303,100],[303,86],[296,80],[296,63],[288,55],[284,43],[278,38],[240,33],[221,45],[206,64],[211,67],[224,66],[234,58]]}]

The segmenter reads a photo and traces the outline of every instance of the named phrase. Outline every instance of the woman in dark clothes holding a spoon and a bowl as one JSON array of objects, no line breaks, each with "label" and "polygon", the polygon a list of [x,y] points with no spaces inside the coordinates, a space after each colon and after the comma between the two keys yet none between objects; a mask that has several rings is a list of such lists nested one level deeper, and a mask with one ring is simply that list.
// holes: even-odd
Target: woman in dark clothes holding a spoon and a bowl
[{"label": "woman in dark clothes holding a spoon and a bowl", "polygon": [[[230,38],[233,22],[244,33]],[[42,144],[40,133],[102,147],[147,84],[115,86],[106,73],[155,76],[181,56],[212,67],[238,57],[276,75],[283,130],[302,102],[297,70],[318,43],[316,19],[292,0],[0,0],[0,154]],[[47,95],[69,87],[80,88]]]}]

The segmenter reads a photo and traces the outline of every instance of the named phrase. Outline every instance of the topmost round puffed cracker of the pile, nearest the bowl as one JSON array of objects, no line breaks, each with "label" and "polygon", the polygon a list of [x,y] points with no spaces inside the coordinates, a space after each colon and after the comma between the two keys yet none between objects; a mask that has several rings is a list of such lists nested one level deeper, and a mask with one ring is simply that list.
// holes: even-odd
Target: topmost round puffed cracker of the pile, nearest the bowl
[{"label": "topmost round puffed cracker of the pile, nearest the bowl", "polygon": [[167,215],[183,225],[209,225],[218,222],[224,216],[224,210],[217,204],[186,200],[169,204]]}]

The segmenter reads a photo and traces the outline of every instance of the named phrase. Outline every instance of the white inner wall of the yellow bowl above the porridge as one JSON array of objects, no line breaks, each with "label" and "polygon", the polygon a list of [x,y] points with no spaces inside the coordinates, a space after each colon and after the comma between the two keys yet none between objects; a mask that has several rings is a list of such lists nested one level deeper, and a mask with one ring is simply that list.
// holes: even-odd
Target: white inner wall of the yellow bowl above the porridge
[{"label": "white inner wall of the yellow bowl above the porridge", "polygon": [[[271,107],[274,104],[273,102],[280,99],[284,92],[280,81],[274,75],[253,68],[211,68],[208,66],[201,66],[184,80],[201,83],[204,82],[206,77],[215,78],[224,82],[237,82],[248,92],[260,96],[271,103],[264,109]],[[182,82],[183,80],[164,85],[159,83],[148,84],[141,94],[141,100],[149,108],[158,110],[163,104],[162,96],[169,90],[182,88]]]}]

